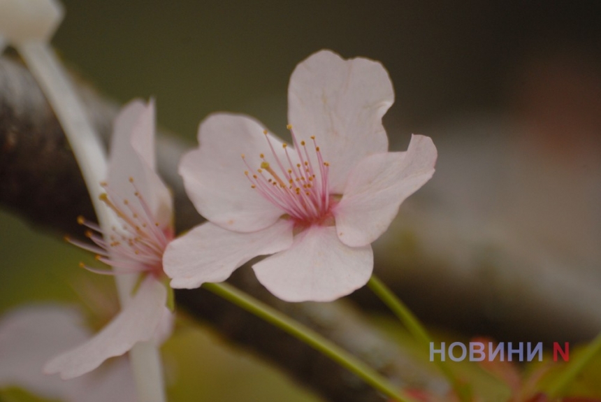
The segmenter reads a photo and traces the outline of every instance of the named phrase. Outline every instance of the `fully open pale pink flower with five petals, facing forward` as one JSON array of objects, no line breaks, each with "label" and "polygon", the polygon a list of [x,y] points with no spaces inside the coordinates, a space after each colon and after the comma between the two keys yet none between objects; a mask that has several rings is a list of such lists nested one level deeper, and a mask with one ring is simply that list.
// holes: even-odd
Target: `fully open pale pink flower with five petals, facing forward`
[{"label": "fully open pale pink flower with five petals, facing forward", "polygon": [[369,280],[370,243],[434,173],[430,138],[387,152],[382,116],[394,93],[378,62],[322,50],[290,78],[282,143],[244,115],[210,115],[200,147],[184,155],[187,193],[209,222],[164,254],[172,287],[219,282],[249,259],[259,281],[285,301],[331,301]]}]

